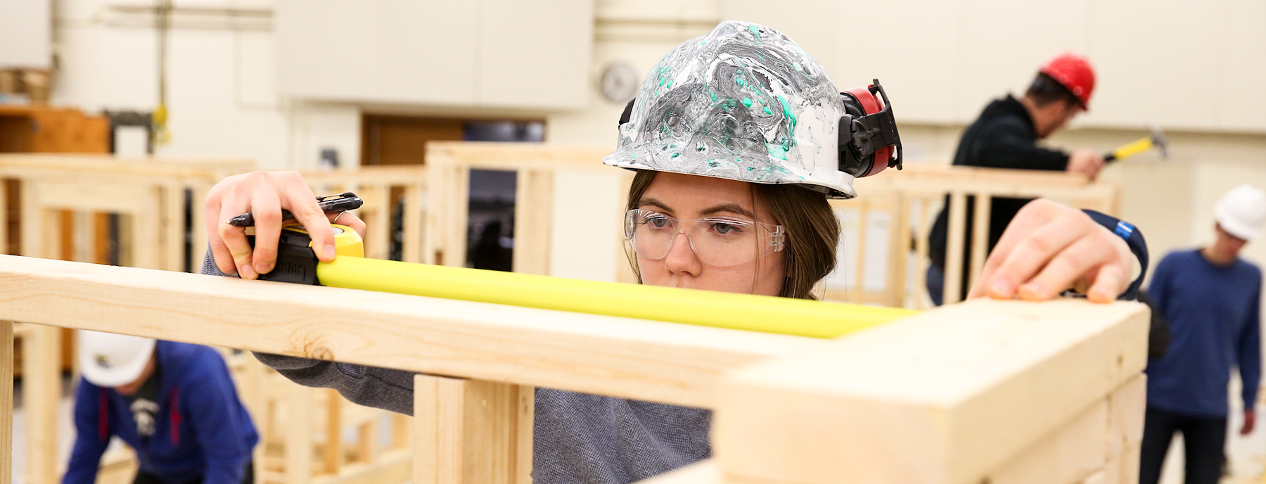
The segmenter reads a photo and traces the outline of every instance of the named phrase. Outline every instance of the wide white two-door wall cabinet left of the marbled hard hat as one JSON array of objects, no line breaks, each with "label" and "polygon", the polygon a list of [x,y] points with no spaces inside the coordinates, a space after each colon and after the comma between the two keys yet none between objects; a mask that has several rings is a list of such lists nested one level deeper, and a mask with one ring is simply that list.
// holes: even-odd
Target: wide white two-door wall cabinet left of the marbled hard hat
[{"label": "wide white two-door wall cabinet left of the marbled hard hat", "polygon": [[282,95],[444,106],[587,101],[591,0],[280,0]]}]

